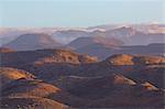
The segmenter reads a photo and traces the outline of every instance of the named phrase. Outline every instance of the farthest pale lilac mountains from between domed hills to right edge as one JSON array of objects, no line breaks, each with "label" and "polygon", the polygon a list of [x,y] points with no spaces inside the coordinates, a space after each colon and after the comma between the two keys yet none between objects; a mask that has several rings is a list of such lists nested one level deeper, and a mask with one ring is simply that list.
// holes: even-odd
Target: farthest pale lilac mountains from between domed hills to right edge
[{"label": "farthest pale lilac mountains from between domed hills to right edge", "polygon": [[67,30],[57,31],[53,34],[62,43],[69,43],[78,37],[103,36],[113,37],[123,41],[127,45],[147,45],[150,43],[164,43],[164,32],[147,32],[139,31],[132,26],[119,26],[111,30],[95,30],[95,31],[80,31]]}]

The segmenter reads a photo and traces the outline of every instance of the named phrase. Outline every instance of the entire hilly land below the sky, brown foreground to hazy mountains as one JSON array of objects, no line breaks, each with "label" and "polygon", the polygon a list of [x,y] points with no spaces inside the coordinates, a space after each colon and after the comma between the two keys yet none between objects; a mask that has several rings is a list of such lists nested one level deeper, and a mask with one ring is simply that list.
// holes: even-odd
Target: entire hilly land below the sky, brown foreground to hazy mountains
[{"label": "entire hilly land below the sky, brown foreground to hazy mountains", "polygon": [[1,109],[164,109],[164,25],[150,26],[1,29]]}]

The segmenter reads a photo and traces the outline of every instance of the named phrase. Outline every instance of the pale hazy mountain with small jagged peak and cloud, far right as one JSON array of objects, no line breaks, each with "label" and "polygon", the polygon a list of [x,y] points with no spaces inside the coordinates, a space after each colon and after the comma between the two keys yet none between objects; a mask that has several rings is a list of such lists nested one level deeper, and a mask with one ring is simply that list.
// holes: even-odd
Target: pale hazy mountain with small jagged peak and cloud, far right
[{"label": "pale hazy mountain with small jagged peak and cloud, far right", "polygon": [[162,25],[119,25],[99,32],[101,36],[117,37],[127,45],[147,45],[150,43],[164,43],[165,29]]}]

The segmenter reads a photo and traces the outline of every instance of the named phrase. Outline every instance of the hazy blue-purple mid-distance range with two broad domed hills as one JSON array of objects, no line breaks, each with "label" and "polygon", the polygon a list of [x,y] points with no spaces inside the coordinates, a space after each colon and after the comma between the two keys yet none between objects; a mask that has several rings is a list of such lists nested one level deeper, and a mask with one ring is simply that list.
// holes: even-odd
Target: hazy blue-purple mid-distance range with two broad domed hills
[{"label": "hazy blue-purple mid-distance range with two broad domed hills", "polygon": [[[125,33],[125,35],[127,34],[128,33]],[[136,37],[138,36],[141,35],[136,35]],[[138,39],[135,41],[138,41]],[[145,39],[143,41],[145,42]],[[156,42],[156,40],[154,41]],[[51,35],[44,33],[29,33],[29,34],[20,35],[14,41],[7,43],[2,46],[3,46],[3,51],[4,47],[13,51],[66,48],[66,50],[74,50],[78,53],[97,56],[99,59],[105,59],[109,55],[120,54],[120,53],[163,56],[165,44],[152,43],[148,45],[127,45],[122,40],[119,40],[117,37],[105,37],[105,36],[86,36],[86,37],[84,36],[72,41],[69,44],[62,44],[56,40],[54,40]]]}]

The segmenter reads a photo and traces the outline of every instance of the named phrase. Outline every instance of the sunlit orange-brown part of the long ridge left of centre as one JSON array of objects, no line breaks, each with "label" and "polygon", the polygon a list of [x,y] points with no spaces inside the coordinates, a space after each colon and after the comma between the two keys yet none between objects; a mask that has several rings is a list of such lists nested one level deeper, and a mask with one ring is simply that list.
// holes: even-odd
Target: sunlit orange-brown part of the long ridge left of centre
[{"label": "sunlit orange-brown part of the long ridge left of centre", "polygon": [[[42,51],[47,54],[51,52]],[[66,50],[56,50],[52,51],[52,56],[47,56],[44,58],[40,58],[34,62],[35,64],[44,64],[44,63],[72,63],[72,64],[84,64],[84,63],[95,63],[97,62],[97,57],[91,57],[88,55],[79,55],[77,53],[66,51]]]}]

